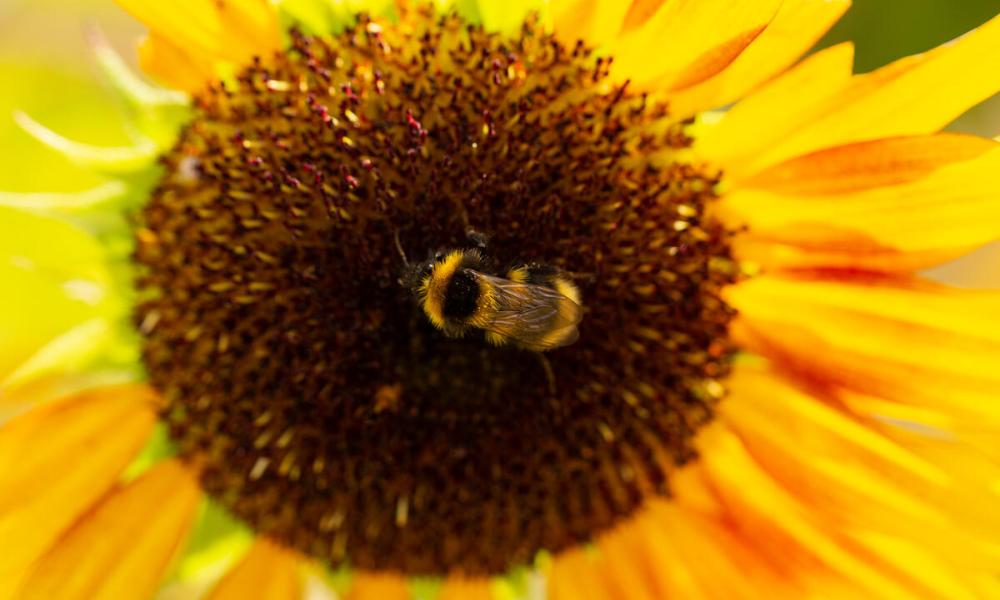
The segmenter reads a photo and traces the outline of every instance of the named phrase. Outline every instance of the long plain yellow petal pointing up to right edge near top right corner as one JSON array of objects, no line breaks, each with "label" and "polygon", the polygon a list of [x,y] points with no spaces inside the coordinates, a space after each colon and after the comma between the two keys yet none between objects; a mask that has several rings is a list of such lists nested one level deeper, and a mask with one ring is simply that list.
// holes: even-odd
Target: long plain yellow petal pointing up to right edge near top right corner
[{"label": "long plain yellow petal pointing up to right edge near top right corner", "polygon": [[[730,176],[738,179],[743,174],[821,148],[933,133],[1000,91],[1000,71],[981,68],[997,62],[1000,62],[1000,17],[950,44],[859,75],[834,93],[813,100],[805,111],[784,110],[788,104],[801,104],[803,95],[810,93],[794,89],[788,90],[788,101],[771,104],[768,114],[751,111],[762,117],[756,125],[741,123],[748,114],[734,110],[723,119],[706,147],[735,143],[736,148],[716,157],[728,168]],[[745,135],[727,137],[747,127],[771,133],[766,140],[752,140]],[[723,137],[728,141],[722,142]]]}]

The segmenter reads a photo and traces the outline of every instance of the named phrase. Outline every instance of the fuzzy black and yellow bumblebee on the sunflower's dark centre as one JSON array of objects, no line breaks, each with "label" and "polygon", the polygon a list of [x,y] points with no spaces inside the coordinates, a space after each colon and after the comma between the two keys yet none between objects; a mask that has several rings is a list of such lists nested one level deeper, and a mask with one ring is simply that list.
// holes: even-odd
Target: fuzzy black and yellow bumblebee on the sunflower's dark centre
[{"label": "fuzzy black and yellow bumblebee on the sunflower's dark centre", "polygon": [[536,352],[577,340],[580,292],[559,269],[521,264],[503,277],[490,272],[479,250],[449,250],[410,265],[401,281],[448,337],[481,330],[490,344]]}]

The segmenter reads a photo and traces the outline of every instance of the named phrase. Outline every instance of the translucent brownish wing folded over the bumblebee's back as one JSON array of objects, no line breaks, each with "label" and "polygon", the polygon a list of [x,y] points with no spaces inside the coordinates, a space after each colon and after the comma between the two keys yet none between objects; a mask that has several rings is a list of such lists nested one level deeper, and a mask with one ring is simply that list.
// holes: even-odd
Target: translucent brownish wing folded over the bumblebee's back
[{"label": "translucent brownish wing folded over the bumblebee's back", "polygon": [[576,302],[548,286],[483,277],[496,292],[497,306],[483,326],[486,331],[538,351],[572,344],[579,337],[576,324],[583,310]]}]

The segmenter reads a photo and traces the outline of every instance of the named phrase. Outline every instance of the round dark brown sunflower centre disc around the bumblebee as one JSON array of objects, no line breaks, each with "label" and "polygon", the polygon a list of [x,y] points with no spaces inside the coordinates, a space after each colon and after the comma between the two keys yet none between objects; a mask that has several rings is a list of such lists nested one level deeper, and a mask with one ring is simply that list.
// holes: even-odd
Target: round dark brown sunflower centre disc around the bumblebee
[{"label": "round dark brown sunflower centre disc around the bumblebee", "polygon": [[[416,11],[196,99],[143,210],[137,322],[181,453],[330,564],[496,574],[668,493],[728,371],[716,175],[608,61]],[[398,278],[488,235],[573,274],[575,344],[444,338]]]}]

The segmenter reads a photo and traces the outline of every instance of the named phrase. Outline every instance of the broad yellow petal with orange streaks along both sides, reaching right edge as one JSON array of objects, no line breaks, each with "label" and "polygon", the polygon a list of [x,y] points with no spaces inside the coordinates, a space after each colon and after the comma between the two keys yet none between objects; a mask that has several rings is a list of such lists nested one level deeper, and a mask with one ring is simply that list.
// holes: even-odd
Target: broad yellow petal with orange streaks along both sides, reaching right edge
[{"label": "broad yellow petal with orange streaks along both sides, reaching right edge", "polygon": [[772,167],[727,194],[741,258],[768,268],[912,271],[1000,239],[1000,148],[937,135],[863,142]]}]

